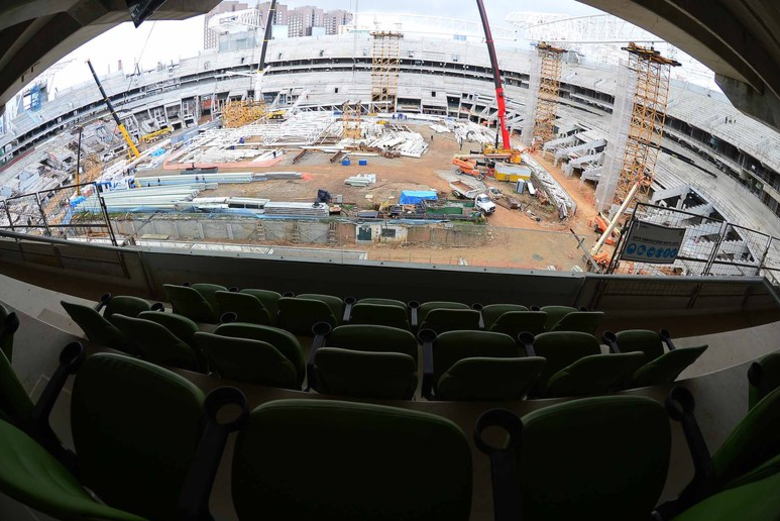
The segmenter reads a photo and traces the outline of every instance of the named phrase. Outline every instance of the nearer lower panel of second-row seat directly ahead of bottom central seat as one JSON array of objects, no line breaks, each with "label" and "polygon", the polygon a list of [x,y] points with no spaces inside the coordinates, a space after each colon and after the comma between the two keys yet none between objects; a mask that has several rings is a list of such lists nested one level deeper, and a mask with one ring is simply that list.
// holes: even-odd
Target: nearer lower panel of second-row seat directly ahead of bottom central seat
[{"label": "nearer lower panel of second-row seat directly ahead of bottom central seat", "polygon": [[417,389],[417,362],[397,352],[321,347],[314,355],[314,372],[323,394],[409,400]]}]

